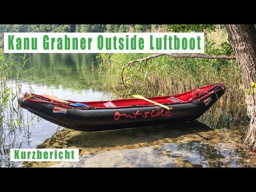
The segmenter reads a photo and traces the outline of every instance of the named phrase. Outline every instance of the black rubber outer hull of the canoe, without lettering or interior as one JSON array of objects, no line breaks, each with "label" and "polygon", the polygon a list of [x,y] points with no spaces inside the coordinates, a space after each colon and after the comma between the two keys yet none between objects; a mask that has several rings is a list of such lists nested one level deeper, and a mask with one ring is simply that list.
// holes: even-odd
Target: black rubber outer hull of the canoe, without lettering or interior
[{"label": "black rubber outer hull of the canoe, without lettering or interior", "polygon": [[[212,91],[219,90],[223,85],[216,84],[218,86],[214,87]],[[116,130],[124,128],[134,128],[142,126],[153,126],[160,124],[169,124],[177,122],[189,122],[199,118],[202,114],[208,110],[218,99],[224,94],[225,90],[221,89],[215,93],[210,94],[201,101],[193,101],[184,104],[170,104],[168,107],[172,107],[168,116],[164,116],[166,109],[160,106],[149,106],[149,107],[133,107],[133,108],[115,108],[115,109],[70,109],[62,106],[57,106],[54,104],[44,103],[44,102],[34,102],[29,100],[23,100],[23,97],[18,98],[18,103],[22,108],[25,108],[36,114],[37,116],[48,120],[52,123],[58,124],[60,126],[70,128],[79,131],[104,131],[104,130]],[[212,101],[206,105],[205,100],[211,98]],[[66,109],[66,114],[63,113],[53,113],[54,107],[60,107]],[[137,112],[139,110],[139,112]],[[153,115],[158,113],[158,116],[152,117],[150,114],[147,115],[145,112],[152,112]],[[162,110],[162,113],[161,113]],[[134,113],[144,114],[136,115],[136,118],[130,118],[125,116],[115,116],[116,113],[127,114],[134,116]],[[172,116],[170,116],[172,114]],[[115,120],[114,116],[116,117]]]}]

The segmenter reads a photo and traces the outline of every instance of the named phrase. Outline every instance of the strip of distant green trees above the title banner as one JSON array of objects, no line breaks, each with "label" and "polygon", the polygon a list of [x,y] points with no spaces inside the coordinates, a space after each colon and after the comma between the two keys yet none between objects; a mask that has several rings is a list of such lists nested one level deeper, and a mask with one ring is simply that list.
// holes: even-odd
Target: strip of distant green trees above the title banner
[{"label": "strip of distant green trees above the title banner", "polygon": [[4,32],[204,32],[215,25],[170,24],[0,24],[0,47],[4,46]]}]

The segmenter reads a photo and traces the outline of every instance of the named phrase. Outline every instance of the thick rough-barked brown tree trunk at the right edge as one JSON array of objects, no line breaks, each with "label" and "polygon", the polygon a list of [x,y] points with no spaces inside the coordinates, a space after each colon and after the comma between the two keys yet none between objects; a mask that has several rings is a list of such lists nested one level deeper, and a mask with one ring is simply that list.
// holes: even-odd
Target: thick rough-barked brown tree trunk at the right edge
[{"label": "thick rough-barked brown tree trunk at the right edge", "polygon": [[[256,82],[256,28],[254,25],[225,25],[232,44],[245,89]],[[247,114],[250,117],[245,143],[256,149],[256,95],[245,94]]]}]

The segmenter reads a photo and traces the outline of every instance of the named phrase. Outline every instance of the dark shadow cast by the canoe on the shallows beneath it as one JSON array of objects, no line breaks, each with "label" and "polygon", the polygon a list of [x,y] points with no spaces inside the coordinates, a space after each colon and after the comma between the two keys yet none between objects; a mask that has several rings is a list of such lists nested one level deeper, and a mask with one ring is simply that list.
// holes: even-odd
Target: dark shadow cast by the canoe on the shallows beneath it
[{"label": "dark shadow cast by the canoe on the shallows beneath it", "polygon": [[140,147],[141,143],[150,146],[157,140],[166,140],[168,142],[168,139],[188,134],[198,134],[202,139],[207,139],[200,135],[199,132],[210,130],[212,129],[198,121],[102,132],[79,132],[66,129],[47,139],[38,147],[54,147],[59,143],[65,144],[67,147],[75,146],[77,148],[113,148],[127,145],[136,148]]}]

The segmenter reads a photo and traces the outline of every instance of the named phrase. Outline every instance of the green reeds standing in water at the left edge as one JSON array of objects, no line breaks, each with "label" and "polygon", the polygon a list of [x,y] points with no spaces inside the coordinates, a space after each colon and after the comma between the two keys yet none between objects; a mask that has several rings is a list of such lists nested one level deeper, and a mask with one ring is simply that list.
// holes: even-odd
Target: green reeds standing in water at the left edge
[{"label": "green reeds standing in water at the left edge", "polygon": [[24,70],[28,61],[26,56],[27,54],[0,54],[1,138],[4,133],[6,134],[6,130],[11,133],[17,128],[24,127],[22,126],[22,110],[18,107],[17,98],[22,93],[22,76],[29,74],[29,70]]}]

